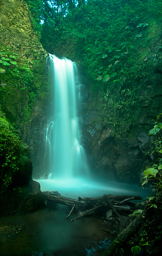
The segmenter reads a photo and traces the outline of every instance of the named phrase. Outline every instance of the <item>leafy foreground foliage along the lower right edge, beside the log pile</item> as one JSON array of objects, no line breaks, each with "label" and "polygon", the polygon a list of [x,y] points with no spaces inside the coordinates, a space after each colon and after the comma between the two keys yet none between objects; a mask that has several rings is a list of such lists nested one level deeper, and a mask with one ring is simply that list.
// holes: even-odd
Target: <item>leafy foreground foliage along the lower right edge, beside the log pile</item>
[{"label": "leafy foreground foliage along the lower right edge, beside the log pile", "polygon": [[[142,227],[133,235],[128,244],[131,246],[132,253],[137,254],[141,249],[145,251],[146,255],[156,255],[160,251],[160,241],[162,236],[161,226],[161,214],[162,214],[162,180],[161,180],[161,154],[159,153],[159,146],[161,147],[161,114],[159,114],[155,122],[154,128],[160,127],[156,134],[150,136],[157,136],[158,139],[152,143],[152,148],[149,153],[157,153],[155,163],[151,163],[151,166],[144,171],[145,181],[152,183],[153,194],[148,197],[148,201],[145,202],[145,209],[137,210],[133,215],[139,213],[143,216]],[[157,125],[157,126],[156,126]],[[156,126],[156,127],[155,127]],[[150,133],[150,131],[149,131]],[[154,147],[154,148],[153,148]],[[159,157],[160,156],[160,157]],[[133,254],[133,255],[134,255]]]}]

